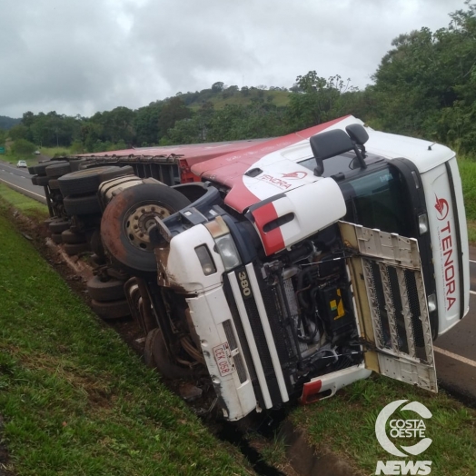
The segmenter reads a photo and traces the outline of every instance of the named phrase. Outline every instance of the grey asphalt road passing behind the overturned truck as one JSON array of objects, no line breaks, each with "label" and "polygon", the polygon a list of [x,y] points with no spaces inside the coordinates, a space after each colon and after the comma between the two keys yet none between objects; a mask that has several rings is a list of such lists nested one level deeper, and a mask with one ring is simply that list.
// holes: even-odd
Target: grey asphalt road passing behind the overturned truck
[{"label": "grey asphalt road passing behind the overturned truck", "polygon": [[[26,169],[0,162],[0,182],[46,203],[43,187],[31,183]],[[434,342],[436,373],[441,387],[476,404],[476,249],[470,250],[470,312]]]}]

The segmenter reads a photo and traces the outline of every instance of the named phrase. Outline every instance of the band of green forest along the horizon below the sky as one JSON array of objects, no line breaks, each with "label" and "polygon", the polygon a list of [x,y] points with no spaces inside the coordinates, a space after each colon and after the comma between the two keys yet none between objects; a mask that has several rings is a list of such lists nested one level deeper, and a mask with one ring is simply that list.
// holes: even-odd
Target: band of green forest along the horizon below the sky
[{"label": "band of green forest along the horizon below the sky", "polygon": [[352,86],[339,74],[316,71],[288,89],[212,84],[132,110],[119,106],[91,117],[26,112],[1,116],[0,144],[10,137],[26,148],[63,146],[73,153],[155,144],[273,137],[353,114],[373,128],[476,152],[476,5],[451,13],[447,27],[402,34],[372,74]]}]

